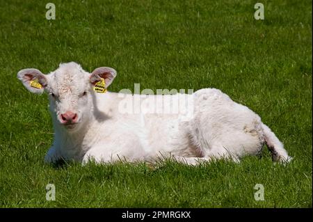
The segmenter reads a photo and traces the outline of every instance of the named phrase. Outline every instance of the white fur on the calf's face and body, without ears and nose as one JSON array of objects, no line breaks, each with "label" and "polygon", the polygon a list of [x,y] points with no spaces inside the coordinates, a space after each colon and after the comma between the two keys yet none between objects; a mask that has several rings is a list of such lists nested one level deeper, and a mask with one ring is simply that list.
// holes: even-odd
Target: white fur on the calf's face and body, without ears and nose
[{"label": "white fur on the calf's face and body, without ears and nose", "polygon": [[[192,118],[182,118],[181,113],[121,113],[122,101],[135,97],[141,103],[156,102],[162,95],[95,93],[90,75],[77,63],[61,64],[56,71],[44,75],[45,90],[56,95],[49,96],[55,135],[45,161],[67,159],[86,164],[90,159],[107,163],[174,157],[194,165],[220,158],[239,161],[246,154],[261,152],[264,143],[274,160],[291,159],[257,114],[220,90],[204,88],[193,95],[166,96],[179,100],[192,97]],[[86,96],[82,95],[84,91],[88,91]],[[167,101],[169,106],[171,100]],[[78,113],[79,123],[73,129],[61,125],[58,119],[65,111]]]}]

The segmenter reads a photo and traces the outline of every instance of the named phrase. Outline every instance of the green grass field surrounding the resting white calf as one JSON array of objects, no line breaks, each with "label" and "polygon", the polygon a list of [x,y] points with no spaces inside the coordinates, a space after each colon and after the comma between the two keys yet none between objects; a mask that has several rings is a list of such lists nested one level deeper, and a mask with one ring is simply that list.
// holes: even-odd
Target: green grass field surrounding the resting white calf
[{"label": "green grass field surrounding the resting white calf", "polygon": [[[312,1],[264,0],[264,20],[258,1],[53,2],[56,20],[45,1],[0,0],[0,207],[312,207]],[[264,149],[241,164],[44,164],[47,95],[16,74],[68,61],[115,68],[115,92],[219,88],[258,113],[294,161],[273,164]]]}]

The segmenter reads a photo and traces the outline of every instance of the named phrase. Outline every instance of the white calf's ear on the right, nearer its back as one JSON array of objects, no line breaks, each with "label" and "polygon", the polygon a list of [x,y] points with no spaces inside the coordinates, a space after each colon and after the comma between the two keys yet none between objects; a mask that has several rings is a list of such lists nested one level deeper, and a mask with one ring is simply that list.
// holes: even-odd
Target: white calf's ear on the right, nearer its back
[{"label": "white calf's ear on the right, nearer its back", "polygon": [[104,79],[106,83],[105,88],[108,88],[108,86],[113,82],[113,79],[116,77],[116,74],[116,70],[114,70],[113,68],[96,68],[90,75],[90,83],[95,86],[97,82],[101,81],[101,79]]}]

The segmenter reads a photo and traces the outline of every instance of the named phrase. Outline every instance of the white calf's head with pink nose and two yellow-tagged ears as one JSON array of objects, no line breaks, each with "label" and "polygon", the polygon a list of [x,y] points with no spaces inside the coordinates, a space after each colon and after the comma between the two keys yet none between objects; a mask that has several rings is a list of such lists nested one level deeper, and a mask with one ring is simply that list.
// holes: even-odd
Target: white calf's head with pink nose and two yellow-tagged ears
[{"label": "white calf's head with pink nose and two yellow-tagged ears", "polygon": [[91,74],[77,63],[62,63],[57,70],[42,74],[37,69],[24,69],[17,78],[31,93],[49,94],[49,108],[56,124],[76,130],[93,115],[94,86],[104,79],[107,88],[116,77],[113,68],[101,67]]}]

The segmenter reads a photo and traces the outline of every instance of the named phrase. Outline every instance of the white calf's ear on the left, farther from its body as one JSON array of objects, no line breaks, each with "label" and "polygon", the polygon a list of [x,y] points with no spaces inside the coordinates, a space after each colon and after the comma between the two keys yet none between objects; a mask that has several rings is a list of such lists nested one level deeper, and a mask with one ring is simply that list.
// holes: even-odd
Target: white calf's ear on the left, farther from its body
[{"label": "white calf's ear on the left, farther from its body", "polygon": [[31,93],[41,94],[47,86],[47,78],[36,69],[24,69],[17,72],[17,78]]}]

